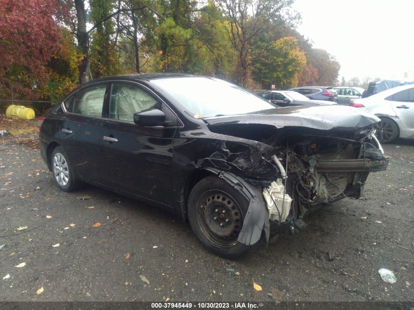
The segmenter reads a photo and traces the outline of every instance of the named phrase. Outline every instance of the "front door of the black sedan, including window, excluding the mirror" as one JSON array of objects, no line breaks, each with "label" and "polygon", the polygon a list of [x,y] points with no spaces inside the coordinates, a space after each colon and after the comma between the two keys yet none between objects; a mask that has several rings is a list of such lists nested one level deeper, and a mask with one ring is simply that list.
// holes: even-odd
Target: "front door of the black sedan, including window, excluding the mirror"
[{"label": "front door of the black sedan, including window, excluding the mirror", "polygon": [[[141,127],[133,115],[147,109],[166,114],[163,126]],[[103,156],[108,165],[105,175],[109,186],[171,204],[173,189],[173,138],[177,117],[170,108],[144,85],[117,81],[111,86],[109,118],[102,123]],[[112,140],[112,141],[109,141]]]}]

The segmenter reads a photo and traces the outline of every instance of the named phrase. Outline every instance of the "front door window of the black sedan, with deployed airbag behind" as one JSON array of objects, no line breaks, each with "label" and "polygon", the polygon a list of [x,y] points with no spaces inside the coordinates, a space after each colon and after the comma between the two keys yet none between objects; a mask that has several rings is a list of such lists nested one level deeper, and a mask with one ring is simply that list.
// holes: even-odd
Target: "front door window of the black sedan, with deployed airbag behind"
[{"label": "front door window of the black sedan, with deployed airbag behind", "polygon": [[113,83],[109,102],[109,117],[134,121],[134,114],[148,109],[161,110],[161,102],[138,85]]}]

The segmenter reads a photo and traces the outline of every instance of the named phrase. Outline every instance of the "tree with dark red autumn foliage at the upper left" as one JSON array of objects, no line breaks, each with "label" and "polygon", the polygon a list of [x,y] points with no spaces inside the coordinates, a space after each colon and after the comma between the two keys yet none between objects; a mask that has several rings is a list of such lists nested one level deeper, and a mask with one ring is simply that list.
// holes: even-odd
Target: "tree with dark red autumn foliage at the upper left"
[{"label": "tree with dark red autumn foliage at the upper left", "polygon": [[49,77],[47,64],[60,49],[56,0],[0,0],[0,80],[28,96]]}]

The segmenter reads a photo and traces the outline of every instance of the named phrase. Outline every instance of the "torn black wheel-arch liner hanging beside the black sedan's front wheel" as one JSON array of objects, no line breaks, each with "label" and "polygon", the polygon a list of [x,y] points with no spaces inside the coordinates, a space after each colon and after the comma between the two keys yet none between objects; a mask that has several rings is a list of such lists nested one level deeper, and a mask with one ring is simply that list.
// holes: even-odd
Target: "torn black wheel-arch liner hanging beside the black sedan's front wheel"
[{"label": "torn black wheel-arch liner hanging beside the black sedan's front wheel", "polygon": [[260,240],[262,231],[265,230],[266,241],[269,240],[270,224],[268,208],[262,195],[260,186],[247,183],[244,179],[216,168],[205,168],[222,178],[228,184],[233,186],[249,201],[246,216],[243,221],[243,227],[237,240],[246,245],[255,244]]}]

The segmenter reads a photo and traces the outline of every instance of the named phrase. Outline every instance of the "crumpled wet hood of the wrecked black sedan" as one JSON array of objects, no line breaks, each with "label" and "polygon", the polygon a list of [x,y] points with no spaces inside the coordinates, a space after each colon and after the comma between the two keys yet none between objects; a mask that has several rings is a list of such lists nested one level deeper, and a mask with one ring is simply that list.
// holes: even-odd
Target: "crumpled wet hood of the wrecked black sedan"
[{"label": "crumpled wet hood of the wrecked black sedan", "polygon": [[275,108],[252,114],[204,119],[213,128],[231,124],[266,124],[276,128],[307,127],[353,131],[380,121],[375,115],[342,105]]}]

